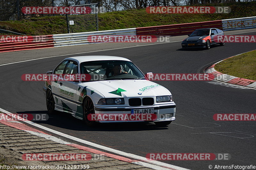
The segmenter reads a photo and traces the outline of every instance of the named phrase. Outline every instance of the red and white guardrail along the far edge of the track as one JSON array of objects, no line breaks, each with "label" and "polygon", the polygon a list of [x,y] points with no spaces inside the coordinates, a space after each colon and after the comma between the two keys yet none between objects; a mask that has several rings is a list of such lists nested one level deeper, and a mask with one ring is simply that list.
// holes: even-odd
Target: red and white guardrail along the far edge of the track
[{"label": "red and white guardrail along the far edge of the track", "polygon": [[[26,42],[2,42],[0,41],[0,53],[20,50],[31,50],[40,48],[50,47],[63,47],[63,46],[78,46],[85,44],[95,44],[102,42],[93,42],[88,40],[90,36],[103,36],[103,35],[129,35],[129,36],[140,36],[140,35],[187,35],[192,33],[198,28],[219,28],[223,31],[240,30],[256,28],[256,17],[247,18],[234,18],[224,19],[217,21],[206,21],[196,22],[187,24],[174,24],[174,25],[162,25],[162,26],[151,26],[141,28],[129,28],[119,30],[107,30],[107,31],[96,31],[96,32],[81,32],[73,34],[55,34],[47,35],[47,39],[34,41],[31,38],[30,41]],[[41,37],[44,36],[34,36]]]}]

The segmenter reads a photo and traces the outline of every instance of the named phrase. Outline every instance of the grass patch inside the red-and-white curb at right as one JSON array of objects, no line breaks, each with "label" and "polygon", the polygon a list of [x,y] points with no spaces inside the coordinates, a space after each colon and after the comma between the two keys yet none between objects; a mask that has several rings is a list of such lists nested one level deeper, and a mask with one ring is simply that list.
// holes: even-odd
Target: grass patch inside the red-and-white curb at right
[{"label": "grass patch inside the red-and-white curb at right", "polygon": [[223,60],[214,68],[223,74],[256,81],[256,50]]}]

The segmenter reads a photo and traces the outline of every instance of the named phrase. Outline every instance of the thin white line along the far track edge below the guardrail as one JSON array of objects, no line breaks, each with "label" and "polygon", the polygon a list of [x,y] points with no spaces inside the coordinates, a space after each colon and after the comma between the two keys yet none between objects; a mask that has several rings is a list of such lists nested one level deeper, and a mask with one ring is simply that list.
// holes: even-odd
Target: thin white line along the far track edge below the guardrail
[{"label": "thin white line along the far track edge below the guardrail", "polygon": [[[173,43],[173,42],[180,42],[180,41],[172,41],[172,42],[164,42],[164,43],[156,43],[156,44],[166,44],[166,43]],[[151,45],[156,45],[156,44],[147,44],[147,45],[141,45],[141,46],[151,46]],[[140,45],[138,45],[138,46],[140,46]],[[76,54],[84,54],[84,53],[94,53],[94,52],[109,51],[109,50],[118,50],[118,49],[132,48],[132,47],[138,47],[138,46],[129,46],[129,47],[122,47],[122,48],[113,48],[113,49],[98,50],[98,51],[89,51],[89,52],[83,52],[83,53],[56,55],[56,56],[52,56],[52,57],[44,57],[44,58],[39,58],[39,59],[31,59],[31,60],[25,60],[25,61],[17,61],[17,62],[13,62],[13,63],[2,64],[2,65],[0,65],[0,66],[5,66],[5,65],[9,65],[9,64],[15,64],[15,63],[22,63],[22,62],[26,62],[26,61],[33,61],[33,60],[41,60],[41,59],[53,58],[53,57],[61,57],[61,56],[76,55]]]}]

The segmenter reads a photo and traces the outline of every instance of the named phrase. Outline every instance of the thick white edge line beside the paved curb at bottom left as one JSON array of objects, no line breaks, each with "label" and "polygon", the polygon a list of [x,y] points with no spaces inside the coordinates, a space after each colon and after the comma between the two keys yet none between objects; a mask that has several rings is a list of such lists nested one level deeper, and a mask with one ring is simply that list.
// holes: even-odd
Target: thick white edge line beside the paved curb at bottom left
[{"label": "thick white edge line beside the paved curb at bottom left", "polygon": [[[4,110],[2,108],[0,108],[0,111],[4,112],[6,114],[12,114],[11,112],[9,112],[7,110]],[[154,169],[156,168],[156,166],[161,166],[160,170],[163,169],[163,167],[166,167],[166,168],[169,168],[169,169],[174,169],[174,170],[189,170],[189,169],[186,169],[186,168],[182,168],[182,167],[179,167],[179,166],[167,164],[167,163],[164,163],[164,162],[159,162],[159,161],[156,161],[156,160],[148,160],[147,158],[139,156],[139,155],[135,155],[135,154],[132,154],[132,153],[126,153],[126,152],[119,151],[119,150],[116,150],[116,149],[112,149],[112,148],[109,148],[109,147],[106,147],[106,146],[95,144],[95,143],[89,142],[87,140],[83,140],[83,139],[76,138],[76,137],[70,136],[68,134],[59,132],[59,131],[55,131],[53,129],[47,128],[45,126],[42,126],[40,124],[36,124],[34,122],[31,122],[31,121],[26,121],[26,123],[30,124],[31,126],[35,126],[35,127],[40,128],[40,129],[43,129],[44,131],[48,131],[48,132],[54,133],[56,135],[59,135],[59,136],[62,136],[64,138],[68,138],[68,139],[74,140],[76,142],[83,143],[85,145],[90,145],[90,146],[93,146],[93,147],[96,147],[96,148],[99,148],[99,149],[102,149],[102,150],[105,150],[105,151],[108,151],[108,152],[116,153],[116,154],[124,156],[124,157],[128,157],[128,158],[132,158],[132,159],[143,161],[143,166],[147,166],[148,164],[150,164],[151,168],[154,167]],[[49,139],[51,140],[53,138],[49,138]],[[159,169],[159,168],[157,168],[157,169]]]}]

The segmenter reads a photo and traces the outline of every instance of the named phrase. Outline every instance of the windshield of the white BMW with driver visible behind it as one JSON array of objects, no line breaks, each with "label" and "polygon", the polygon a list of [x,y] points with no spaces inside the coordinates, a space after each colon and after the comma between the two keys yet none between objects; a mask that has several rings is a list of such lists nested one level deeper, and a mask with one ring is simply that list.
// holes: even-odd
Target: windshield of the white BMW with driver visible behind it
[{"label": "windshield of the white BMW with driver visible behind it", "polygon": [[90,81],[145,79],[144,74],[131,61],[87,61],[80,65],[81,74],[90,74]]}]

